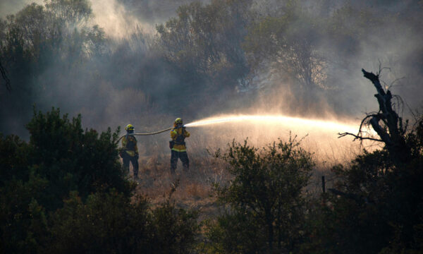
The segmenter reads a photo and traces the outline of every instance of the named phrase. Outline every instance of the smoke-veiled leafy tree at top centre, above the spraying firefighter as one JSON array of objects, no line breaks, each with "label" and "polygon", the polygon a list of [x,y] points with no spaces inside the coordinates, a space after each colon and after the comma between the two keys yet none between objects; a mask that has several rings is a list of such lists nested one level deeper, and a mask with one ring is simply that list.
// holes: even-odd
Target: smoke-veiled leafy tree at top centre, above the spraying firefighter
[{"label": "smoke-veiled leafy tree at top centre, above the spraying firefighter", "polygon": [[233,77],[227,81],[236,84],[248,72],[240,44],[250,23],[251,3],[218,0],[180,6],[177,18],[157,26],[166,56],[188,73],[220,80]]}]

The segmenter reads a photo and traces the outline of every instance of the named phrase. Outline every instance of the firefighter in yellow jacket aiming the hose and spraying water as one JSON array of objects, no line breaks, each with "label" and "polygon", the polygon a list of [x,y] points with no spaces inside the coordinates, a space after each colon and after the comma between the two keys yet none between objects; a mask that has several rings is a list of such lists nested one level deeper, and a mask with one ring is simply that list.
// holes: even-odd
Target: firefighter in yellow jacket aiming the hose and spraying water
[{"label": "firefighter in yellow jacket aiming the hose and spraying water", "polygon": [[173,123],[173,129],[171,130],[171,173],[174,174],[176,170],[176,164],[178,159],[183,164],[185,170],[190,167],[190,160],[188,159],[187,147],[185,146],[185,138],[188,138],[190,133],[185,130],[182,119],[177,118]]}]

